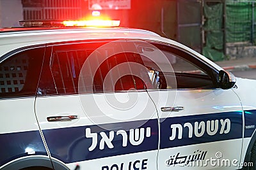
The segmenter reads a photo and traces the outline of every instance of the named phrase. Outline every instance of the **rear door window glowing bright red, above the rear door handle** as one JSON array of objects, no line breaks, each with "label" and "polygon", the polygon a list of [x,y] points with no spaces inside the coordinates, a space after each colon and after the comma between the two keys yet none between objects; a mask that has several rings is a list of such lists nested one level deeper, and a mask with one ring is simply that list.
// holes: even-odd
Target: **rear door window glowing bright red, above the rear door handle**
[{"label": "rear door window glowing bright red, above the rear door handle", "polygon": [[[47,47],[49,53],[38,94],[78,94],[79,85],[83,86],[84,93],[143,90],[148,87],[145,82],[151,83],[149,70],[131,66],[134,63],[143,66],[142,56],[132,52],[115,53],[115,47],[104,48],[106,43],[108,42],[70,43]],[[97,51],[99,47],[100,52]],[[93,57],[92,53],[95,54]],[[84,66],[88,58],[90,64]],[[80,84],[79,78],[83,81]],[[92,83],[88,83],[90,80]]]}]

